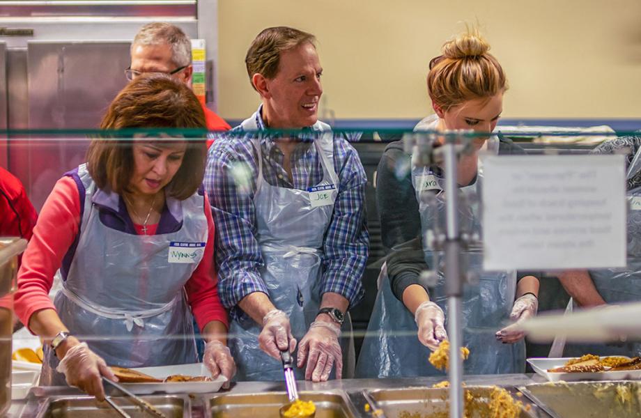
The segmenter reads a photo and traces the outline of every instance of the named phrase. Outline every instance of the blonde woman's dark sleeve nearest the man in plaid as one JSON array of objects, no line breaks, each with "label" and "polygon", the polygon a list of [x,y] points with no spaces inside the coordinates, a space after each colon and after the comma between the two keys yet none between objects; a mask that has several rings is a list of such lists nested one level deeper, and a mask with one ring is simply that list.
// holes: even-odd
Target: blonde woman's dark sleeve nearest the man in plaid
[{"label": "blonde woman's dark sleeve nearest the man in plaid", "polygon": [[376,203],[381,239],[389,252],[389,284],[402,302],[403,291],[410,284],[420,284],[419,275],[428,267],[422,249],[419,204],[412,185],[411,156],[399,142],[389,144],[378,163]]}]

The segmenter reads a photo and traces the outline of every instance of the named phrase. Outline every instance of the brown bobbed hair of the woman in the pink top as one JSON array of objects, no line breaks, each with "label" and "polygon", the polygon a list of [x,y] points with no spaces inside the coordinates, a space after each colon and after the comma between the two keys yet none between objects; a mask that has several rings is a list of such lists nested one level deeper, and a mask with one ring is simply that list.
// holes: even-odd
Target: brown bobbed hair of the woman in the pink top
[{"label": "brown bobbed hair of the woman in the pink top", "polygon": [[[109,104],[100,129],[204,128],[200,102],[185,84],[168,75],[146,73],[136,77]],[[167,144],[159,141],[157,145]],[[205,173],[207,146],[204,138],[187,140],[180,169],[165,187],[167,196],[179,200],[192,196]],[[134,169],[132,140],[95,138],[87,150],[87,168],[95,184],[122,194]]]}]

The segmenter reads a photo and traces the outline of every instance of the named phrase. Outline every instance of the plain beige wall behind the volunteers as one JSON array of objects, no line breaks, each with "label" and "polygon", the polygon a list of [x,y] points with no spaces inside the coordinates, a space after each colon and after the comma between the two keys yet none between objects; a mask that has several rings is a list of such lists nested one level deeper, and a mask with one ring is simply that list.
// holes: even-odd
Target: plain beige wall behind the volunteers
[{"label": "plain beige wall behind the volunteers", "polygon": [[[504,118],[638,118],[638,0],[219,0],[219,113],[258,107],[245,53],[268,26],[314,33],[323,65],[321,118],[418,119],[424,79],[445,40],[478,24],[504,66]],[[324,112],[324,113],[323,113]]]}]

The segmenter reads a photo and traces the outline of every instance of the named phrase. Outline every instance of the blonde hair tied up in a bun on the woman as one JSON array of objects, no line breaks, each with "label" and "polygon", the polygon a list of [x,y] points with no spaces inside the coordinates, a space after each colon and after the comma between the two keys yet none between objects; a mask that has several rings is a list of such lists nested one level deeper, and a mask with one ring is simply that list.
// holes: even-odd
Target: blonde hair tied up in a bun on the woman
[{"label": "blonde hair tied up in a bun on the woman", "polygon": [[478,29],[468,29],[445,42],[442,54],[430,61],[427,91],[431,100],[447,111],[507,90],[503,68],[489,49]]}]

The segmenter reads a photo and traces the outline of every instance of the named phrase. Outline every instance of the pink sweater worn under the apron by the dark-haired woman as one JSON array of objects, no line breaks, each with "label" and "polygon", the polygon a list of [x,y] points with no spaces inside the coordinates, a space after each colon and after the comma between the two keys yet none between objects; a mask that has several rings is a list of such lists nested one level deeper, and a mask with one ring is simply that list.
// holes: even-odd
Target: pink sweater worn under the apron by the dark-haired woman
[{"label": "pink sweater worn under the apron by the dark-haired woman", "polygon": [[[217,290],[217,274],[214,260],[214,221],[207,196],[205,196],[208,238],[205,254],[185,284],[187,301],[192,308],[200,329],[212,320],[229,325],[227,312],[220,303]],[[18,272],[18,290],[15,293],[15,313],[25,325],[31,315],[42,309],[55,309],[49,299],[54,274],[60,268],[63,257],[79,232],[80,194],[71,177],[63,177],[52,190],[38,222],[33,237],[22,256]],[[134,225],[141,233],[141,225]],[[154,234],[157,225],[148,225],[147,231]]]}]

